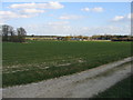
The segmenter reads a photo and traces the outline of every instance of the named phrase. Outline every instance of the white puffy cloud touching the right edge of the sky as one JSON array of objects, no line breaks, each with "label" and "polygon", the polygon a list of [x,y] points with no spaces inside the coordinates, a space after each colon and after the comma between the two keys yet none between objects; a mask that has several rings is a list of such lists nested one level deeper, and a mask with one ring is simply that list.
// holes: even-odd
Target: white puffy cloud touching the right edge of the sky
[{"label": "white puffy cloud touching the right edge of the sky", "polygon": [[117,21],[129,21],[133,18],[133,13],[129,13],[126,16],[115,16],[112,21],[117,22]]}]

